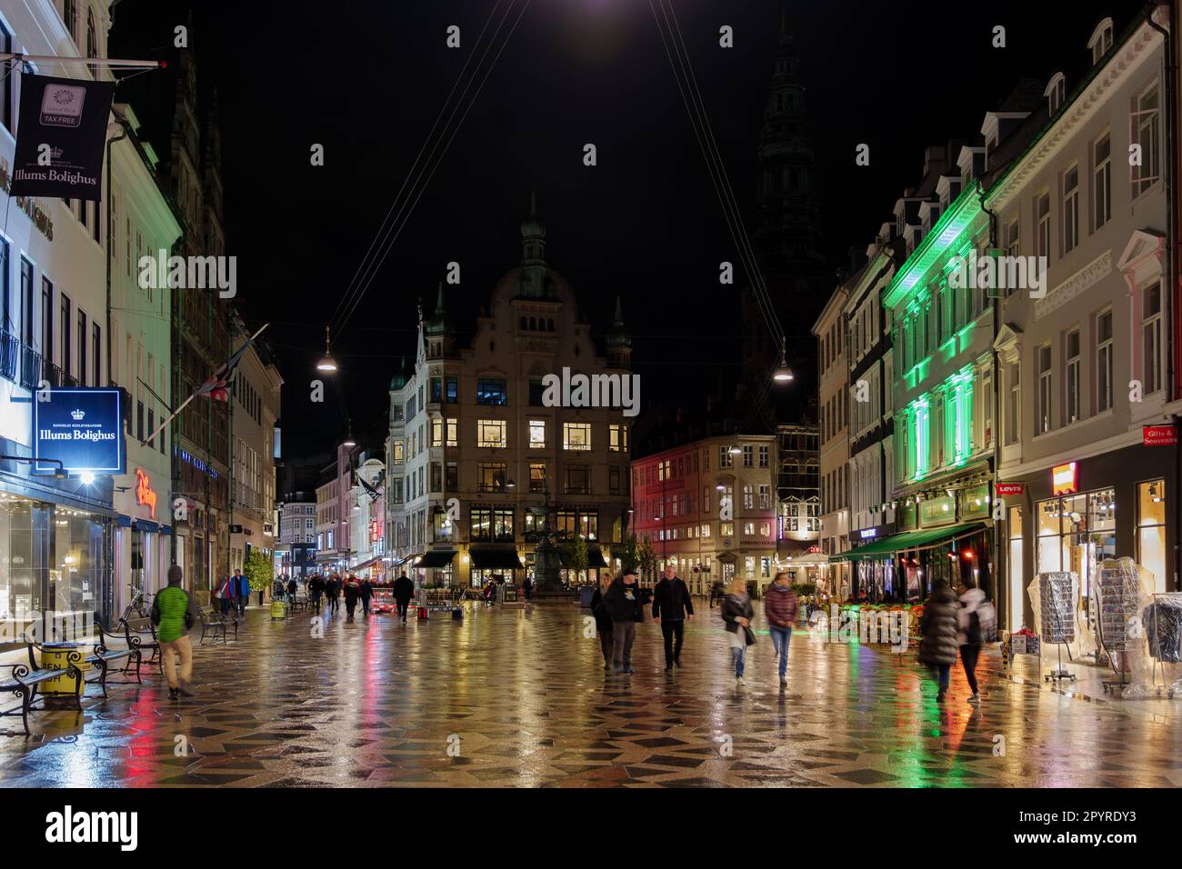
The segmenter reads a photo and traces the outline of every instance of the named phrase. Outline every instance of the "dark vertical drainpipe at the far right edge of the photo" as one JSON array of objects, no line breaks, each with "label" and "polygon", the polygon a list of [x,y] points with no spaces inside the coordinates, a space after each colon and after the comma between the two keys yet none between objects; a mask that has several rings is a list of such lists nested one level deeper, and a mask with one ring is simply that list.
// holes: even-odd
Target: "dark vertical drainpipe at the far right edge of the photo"
[{"label": "dark vertical drainpipe at the far right edge of the photo", "polygon": [[[1165,275],[1167,280],[1170,281],[1170,292],[1164,293],[1165,303],[1170,306],[1169,317],[1167,323],[1173,326],[1173,341],[1170,352],[1165,355],[1165,383],[1168,388],[1167,395],[1171,400],[1177,400],[1178,396],[1178,384],[1176,383],[1176,372],[1182,365],[1182,346],[1180,346],[1180,337],[1182,337],[1182,298],[1180,298],[1180,281],[1175,274],[1175,268],[1177,267],[1177,208],[1174,203],[1174,173],[1177,169],[1177,147],[1174,144],[1177,142],[1177,109],[1174,105],[1174,79],[1177,76],[1177,64],[1174,57],[1174,40],[1170,38],[1170,31],[1165,30],[1154,20],[1154,13],[1162,7],[1169,7],[1168,4],[1151,4],[1145,8],[1145,24],[1152,27],[1155,31],[1162,34],[1165,40],[1165,142],[1169,147],[1165,150],[1165,176],[1164,192],[1165,192]],[[1170,26],[1176,26],[1176,22],[1170,20]],[[1178,424],[1177,414],[1174,415],[1173,422],[1175,427]],[[1182,536],[1182,513],[1178,511],[1178,506],[1182,501],[1178,501],[1177,494],[1182,492],[1182,446],[1174,447],[1174,514],[1175,514],[1175,533],[1174,533],[1174,588],[1178,588],[1178,573],[1182,570],[1182,551],[1178,550],[1178,538]],[[1167,500],[1167,508],[1169,508],[1169,500]]]}]

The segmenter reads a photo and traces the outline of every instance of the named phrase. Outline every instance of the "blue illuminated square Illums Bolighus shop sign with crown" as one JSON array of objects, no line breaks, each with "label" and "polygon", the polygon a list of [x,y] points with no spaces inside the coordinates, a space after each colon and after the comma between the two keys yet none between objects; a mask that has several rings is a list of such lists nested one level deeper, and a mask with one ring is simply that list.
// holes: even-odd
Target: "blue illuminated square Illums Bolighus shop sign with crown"
[{"label": "blue illuminated square Illums Bolighus shop sign with crown", "polygon": [[[41,401],[46,398],[46,401]],[[123,393],[72,388],[33,394],[34,469],[95,474],[124,472]],[[56,461],[53,461],[56,460]]]}]

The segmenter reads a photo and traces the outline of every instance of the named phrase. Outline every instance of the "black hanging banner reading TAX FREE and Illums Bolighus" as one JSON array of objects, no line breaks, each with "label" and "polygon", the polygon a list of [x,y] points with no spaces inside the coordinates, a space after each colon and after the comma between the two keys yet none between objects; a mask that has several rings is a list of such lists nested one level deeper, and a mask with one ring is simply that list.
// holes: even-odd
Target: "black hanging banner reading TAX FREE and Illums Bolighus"
[{"label": "black hanging banner reading TAX FREE and Illums Bolighus", "polygon": [[113,96],[113,82],[21,76],[12,195],[100,200]]}]

